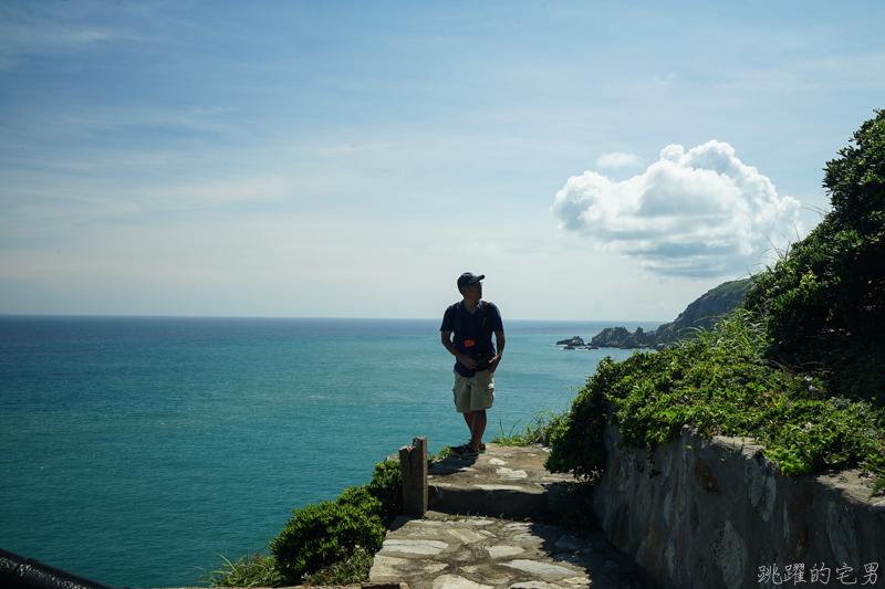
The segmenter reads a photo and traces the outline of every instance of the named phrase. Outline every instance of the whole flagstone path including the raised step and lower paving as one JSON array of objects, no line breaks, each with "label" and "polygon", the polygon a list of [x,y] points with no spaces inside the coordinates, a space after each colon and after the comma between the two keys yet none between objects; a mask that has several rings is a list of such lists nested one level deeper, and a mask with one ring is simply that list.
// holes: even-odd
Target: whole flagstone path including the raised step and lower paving
[{"label": "whole flagstone path including the raised step and lower paving", "polygon": [[428,484],[436,511],[393,523],[369,581],[406,582],[409,589],[649,587],[604,532],[538,522],[552,520],[572,501],[562,486],[571,477],[546,472],[542,449],[487,446],[478,460],[450,456],[434,464]]}]

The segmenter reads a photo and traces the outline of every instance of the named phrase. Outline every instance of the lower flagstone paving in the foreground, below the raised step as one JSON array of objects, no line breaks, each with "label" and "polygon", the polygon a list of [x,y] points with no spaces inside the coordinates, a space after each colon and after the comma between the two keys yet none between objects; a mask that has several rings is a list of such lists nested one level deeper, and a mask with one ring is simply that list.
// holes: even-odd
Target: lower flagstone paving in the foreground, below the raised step
[{"label": "lower flagstone paving in the foreground, below the raised step", "polygon": [[406,582],[409,589],[648,587],[603,532],[439,513],[397,518],[369,581]]}]

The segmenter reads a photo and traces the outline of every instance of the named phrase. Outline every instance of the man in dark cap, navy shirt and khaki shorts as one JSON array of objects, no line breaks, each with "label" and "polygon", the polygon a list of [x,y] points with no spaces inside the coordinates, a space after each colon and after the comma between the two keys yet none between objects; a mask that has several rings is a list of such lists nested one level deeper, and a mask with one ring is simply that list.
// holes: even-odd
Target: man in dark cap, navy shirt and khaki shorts
[{"label": "man in dark cap, navy shirt and khaki shorts", "polygon": [[[504,327],[501,312],[494,303],[481,301],[482,278],[465,272],[458,278],[462,301],[450,305],[442,315],[439,328],[442,345],[455,356],[455,409],[464,413],[470,429],[470,440],[451,449],[462,459],[476,459],[486,451],[482,433],[486,431],[486,410],[494,401],[494,370],[504,351]],[[451,334],[455,334],[452,339]],[[491,334],[498,343],[498,354]]]}]

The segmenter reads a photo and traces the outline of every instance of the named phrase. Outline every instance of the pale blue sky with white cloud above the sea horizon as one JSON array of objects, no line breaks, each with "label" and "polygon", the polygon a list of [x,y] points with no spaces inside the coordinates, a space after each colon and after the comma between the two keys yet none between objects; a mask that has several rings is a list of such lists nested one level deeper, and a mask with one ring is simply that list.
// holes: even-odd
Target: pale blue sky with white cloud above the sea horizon
[{"label": "pale blue sky with white cloud above the sea horizon", "polygon": [[[885,3],[0,4],[0,313],[670,320],[827,207]],[[760,259],[760,255],[762,256]]]}]

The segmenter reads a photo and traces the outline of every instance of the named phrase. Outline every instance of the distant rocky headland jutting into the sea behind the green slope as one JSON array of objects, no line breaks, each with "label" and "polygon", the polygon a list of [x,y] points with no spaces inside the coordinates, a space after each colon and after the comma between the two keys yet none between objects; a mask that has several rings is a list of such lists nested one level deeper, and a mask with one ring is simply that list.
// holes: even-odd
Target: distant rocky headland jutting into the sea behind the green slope
[{"label": "distant rocky headland jutting into the sea behind the green slope", "polygon": [[709,329],[716,320],[739,307],[750,288],[750,278],[730,281],[716,288],[707,291],[694,303],[688,305],[676,319],[658,326],[648,332],[636,327],[629,332],[626,327],[606,327],[590,340],[589,344],[580,336],[556,341],[563,349],[658,349],[671,344],[677,338],[691,337],[697,329]]}]

